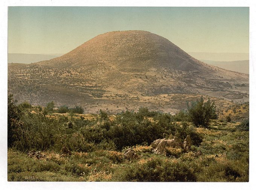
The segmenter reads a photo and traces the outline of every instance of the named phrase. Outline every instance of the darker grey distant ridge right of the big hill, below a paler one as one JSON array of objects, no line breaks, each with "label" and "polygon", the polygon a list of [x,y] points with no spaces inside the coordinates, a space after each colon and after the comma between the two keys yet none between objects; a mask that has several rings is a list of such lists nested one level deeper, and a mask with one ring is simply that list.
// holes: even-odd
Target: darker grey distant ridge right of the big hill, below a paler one
[{"label": "darker grey distant ridge right of the big hill, below a paler one", "polygon": [[210,65],[218,66],[223,69],[230,71],[242,72],[249,74],[249,60],[239,61],[211,61],[211,60],[200,60]]}]

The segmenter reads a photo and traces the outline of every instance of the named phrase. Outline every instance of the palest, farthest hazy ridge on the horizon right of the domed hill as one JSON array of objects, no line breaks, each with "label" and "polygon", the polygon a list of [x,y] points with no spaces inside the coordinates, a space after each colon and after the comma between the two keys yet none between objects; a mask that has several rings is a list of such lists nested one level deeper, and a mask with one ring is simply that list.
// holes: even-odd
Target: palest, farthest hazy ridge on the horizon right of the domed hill
[{"label": "palest, farthest hazy ridge on the horizon right of the domed hill", "polygon": [[209,53],[209,52],[187,52],[198,60],[213,61],[239,61],[248,60],[249,53]]}]

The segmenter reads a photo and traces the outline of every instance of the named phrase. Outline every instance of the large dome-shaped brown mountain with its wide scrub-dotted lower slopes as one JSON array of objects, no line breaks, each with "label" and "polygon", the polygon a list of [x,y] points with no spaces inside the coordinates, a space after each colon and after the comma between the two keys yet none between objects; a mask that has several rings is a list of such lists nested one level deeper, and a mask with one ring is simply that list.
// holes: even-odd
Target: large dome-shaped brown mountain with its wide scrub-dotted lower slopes
[{"label": "large dome-shaped brown mountain with its wide scrub-dotted lower slopes", "polygon": [[147,106],[175,112],[201,95],[248,101],[248,75],[201,62],[146,31],[98,35],[63,56],[8,65],[8,89],[22,102],[82,105],[86,112]]}]

